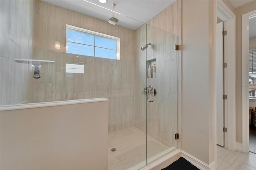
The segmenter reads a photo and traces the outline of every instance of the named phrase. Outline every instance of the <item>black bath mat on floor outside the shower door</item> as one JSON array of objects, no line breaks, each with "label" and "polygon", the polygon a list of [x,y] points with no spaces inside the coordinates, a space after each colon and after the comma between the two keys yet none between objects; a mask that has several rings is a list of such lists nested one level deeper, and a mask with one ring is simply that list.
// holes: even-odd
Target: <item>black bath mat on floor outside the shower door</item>
[{"label": "black bath mat on floor outside the shower door", "polygon": [[199,170],[196,166],[192,165],[185,158],[180,157],[178,160],[167,166],[162,170]]}]

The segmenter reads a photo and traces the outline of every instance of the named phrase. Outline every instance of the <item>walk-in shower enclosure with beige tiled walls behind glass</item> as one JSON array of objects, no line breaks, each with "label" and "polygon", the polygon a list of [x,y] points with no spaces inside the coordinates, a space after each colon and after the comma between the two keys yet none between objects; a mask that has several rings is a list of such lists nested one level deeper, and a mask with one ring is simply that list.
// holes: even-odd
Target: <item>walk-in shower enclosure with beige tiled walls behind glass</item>
[{"label": "walk-in shower enclosure with beige tiled walls behind glass", "polygon": [[[129,17],[141,26],[111,25],[44,1],[0,3],[1,105],[106,97],[109,170],[140,169],[177,148],[177,36]],[[66,24],[120,38],[120,59],[67,53]],[[68,73],[67,64],[83,71]]]}]

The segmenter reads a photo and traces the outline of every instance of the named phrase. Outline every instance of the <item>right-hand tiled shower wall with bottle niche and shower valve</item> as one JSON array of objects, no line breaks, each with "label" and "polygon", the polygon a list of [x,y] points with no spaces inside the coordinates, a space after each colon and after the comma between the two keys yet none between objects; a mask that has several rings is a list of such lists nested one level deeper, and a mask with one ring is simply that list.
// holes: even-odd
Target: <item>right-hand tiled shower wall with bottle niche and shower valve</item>
[{"label": "right-hand tiled shower wall with bottle niche and shower valve", "polygon": [[[180,8],[181,2],[176,1],[150,19],[147,22],[149,25],[143,25],[136,30],[136,46],[141,47],[145,43],[152,45],[145,51],[140,48],[136,50],[138,76],[135,86],[138,87],[136,89],[138,105],[136,105],[135,125],[145,132],[147,119],[147,134],[167,146],[177,146],[174,134],[177,132],[178,121],[178,68],[174,45],[178,44],[177,35],[180,35]],[[145,79],[145,64],[147,67],[148,65],[153,67],[155,63],[156,78]],[[145,95],[142,94],[146,84],[156,89],[152,103],[145,101]]]}]

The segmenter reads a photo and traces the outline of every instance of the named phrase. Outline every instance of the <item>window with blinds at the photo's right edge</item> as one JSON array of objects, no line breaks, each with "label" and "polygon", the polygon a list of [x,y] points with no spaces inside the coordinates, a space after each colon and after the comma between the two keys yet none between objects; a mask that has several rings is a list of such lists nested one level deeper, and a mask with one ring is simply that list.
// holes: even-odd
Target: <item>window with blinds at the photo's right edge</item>
[{"label": "window with blinds at the photo's right edge", "polygon": [[256,49],[249,50],[249,97],[256,99]]}]

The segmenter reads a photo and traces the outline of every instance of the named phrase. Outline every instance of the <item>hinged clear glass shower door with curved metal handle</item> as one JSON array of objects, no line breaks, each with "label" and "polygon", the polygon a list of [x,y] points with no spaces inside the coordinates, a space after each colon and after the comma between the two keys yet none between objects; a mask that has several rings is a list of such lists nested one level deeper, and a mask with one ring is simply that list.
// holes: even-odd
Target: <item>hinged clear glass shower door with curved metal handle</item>
[{"label": "hinged clear glass shower door with curved metal handle", "polygon": [[178,146],[178,38],[146,24],[146,160]]}]

